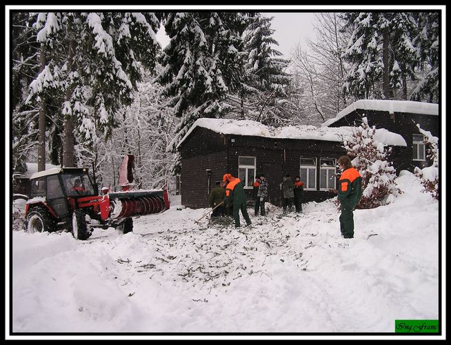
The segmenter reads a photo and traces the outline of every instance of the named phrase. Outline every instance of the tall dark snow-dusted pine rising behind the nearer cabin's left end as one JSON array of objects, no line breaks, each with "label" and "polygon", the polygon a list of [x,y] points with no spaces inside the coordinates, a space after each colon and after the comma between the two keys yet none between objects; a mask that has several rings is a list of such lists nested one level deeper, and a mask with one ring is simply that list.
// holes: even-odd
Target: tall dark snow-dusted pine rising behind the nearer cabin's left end
[{"label": "tall dark snow-dusted pine rising behind the nearer cabin's left end", "polygon": [[[171,12],[165,30],[170,43],[161,55],[157,81],[171,97],[168,106],[180,117],[168,151],[201,117],[223,117],[232,106],[227,94],[241,83],[241,31],[245,15],[239,12]],[[179,164],[174,172],[177,173]]]}]

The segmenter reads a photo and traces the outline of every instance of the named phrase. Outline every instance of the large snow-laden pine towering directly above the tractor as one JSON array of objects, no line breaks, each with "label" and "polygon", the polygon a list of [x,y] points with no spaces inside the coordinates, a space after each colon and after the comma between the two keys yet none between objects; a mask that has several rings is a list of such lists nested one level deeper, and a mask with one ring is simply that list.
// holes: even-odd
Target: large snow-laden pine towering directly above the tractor
[{"label": "large snow-laden pine towering directly above the tractor", "polygon": [[132,102],[139,63],[153,68],[159,19],[153,13],[41,13],[35,27],[52,55],[29,99],[47,92],[44,77],[52,80],[63,115],[63,165],[73,166],[77,143],[94,143],[97,131],[108,136],[118,112]]}]

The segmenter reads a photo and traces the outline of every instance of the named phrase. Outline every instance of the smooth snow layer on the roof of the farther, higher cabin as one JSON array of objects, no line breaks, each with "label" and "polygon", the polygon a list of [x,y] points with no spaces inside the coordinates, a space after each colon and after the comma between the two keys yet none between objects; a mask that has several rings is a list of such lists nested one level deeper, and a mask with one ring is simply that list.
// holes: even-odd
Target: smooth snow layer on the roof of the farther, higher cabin
[{"label": "smooth snow layer on the roof of the farther, higher cabin", "polygon": [[439,104],[437,103],[392,101],[386,99],[360,99],[359,101],[355,101],[350,106],[341,110],[341,112],[339,112],[333,119],[325,121],[321,126],[330,126],[334,122],[357,109],[386,111],[389,114],[393,114],[394,112],[407,112],[411,114],[439,115]]}]

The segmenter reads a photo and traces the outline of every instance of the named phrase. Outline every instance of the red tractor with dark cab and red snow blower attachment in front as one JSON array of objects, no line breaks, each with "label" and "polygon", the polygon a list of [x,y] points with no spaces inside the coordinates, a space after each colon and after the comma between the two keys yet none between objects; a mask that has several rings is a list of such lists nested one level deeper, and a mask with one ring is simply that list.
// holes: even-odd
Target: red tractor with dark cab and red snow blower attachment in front
[{"label": "red tractor with dark cab and red snow blower attachment in front", "polygon": [[86,168],[54,168],[31,177],[26,204],[25,229],[67,230],[76,239],[87,239],[92,228],[133,229],[132,217],[160,213],[170,208],[168,191],[128,190],[98,195]]}]

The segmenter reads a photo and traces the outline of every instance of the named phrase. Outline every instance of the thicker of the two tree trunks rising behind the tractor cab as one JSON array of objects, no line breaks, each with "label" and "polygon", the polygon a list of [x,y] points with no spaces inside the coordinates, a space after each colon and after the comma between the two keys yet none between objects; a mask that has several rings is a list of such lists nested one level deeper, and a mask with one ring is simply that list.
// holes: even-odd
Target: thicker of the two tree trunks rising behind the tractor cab
[{"label": "thicker of the two tree trunks rising behind the tractor cab", "polygon": [[[70,41],[68,52],[68,70],[74,70],[75,41]],[[70,101],[72,86],[66,90],[65,101]],[[63,125],[63,166],[74,166],[74,119],[73,115],[66,115]]]}]

